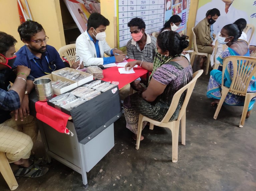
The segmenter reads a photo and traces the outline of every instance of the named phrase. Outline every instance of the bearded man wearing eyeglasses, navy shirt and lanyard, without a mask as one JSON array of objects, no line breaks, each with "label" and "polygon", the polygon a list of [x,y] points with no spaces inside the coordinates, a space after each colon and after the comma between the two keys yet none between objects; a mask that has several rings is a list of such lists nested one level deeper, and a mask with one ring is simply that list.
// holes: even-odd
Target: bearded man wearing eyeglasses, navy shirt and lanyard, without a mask
[{"label": "bearded man wearing eyeglasses, navy shirt and lanyard, without a mask", "polygon": [[[46,44],[49,38],[42,25],[35,21],[26,21],[18,27],[18,33],[25,45],[16,52],[17,58],[13,68],[18,65],[27,66],[31,69],[30,75],[34,79],[65,67],[58,51]],[[75,62],[72,68],[76,69],[78,66],[79,61]],[[83,64],[80,68],[83,68]],[[26,94],[29,94],[33,87],[33,81],[27,80]],[[20,116],[29,114],[28,96],[26,95],[24,98],[18,112]]]}]

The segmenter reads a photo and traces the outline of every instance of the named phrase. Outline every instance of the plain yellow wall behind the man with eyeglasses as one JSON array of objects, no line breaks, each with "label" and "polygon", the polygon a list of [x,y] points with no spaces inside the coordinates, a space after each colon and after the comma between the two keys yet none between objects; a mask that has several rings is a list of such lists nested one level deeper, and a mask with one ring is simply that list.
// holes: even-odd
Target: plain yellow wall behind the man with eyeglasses
[{"label": "plain yellow wall behind the man with eyeglasses", "polygon": [[[21,0],[24,8],[25,0]],[[49,37],[47,44],[57,50],[65,45],[63,25],[60,12],[60,0],[27,0],[33,20],[40,23]],[[16,49],[24,44],[17,32],[20,25],[17,0],[0,0],[0,31],[6,32],[18,41]],[[25,8],[26,9],[26,8]]]}]

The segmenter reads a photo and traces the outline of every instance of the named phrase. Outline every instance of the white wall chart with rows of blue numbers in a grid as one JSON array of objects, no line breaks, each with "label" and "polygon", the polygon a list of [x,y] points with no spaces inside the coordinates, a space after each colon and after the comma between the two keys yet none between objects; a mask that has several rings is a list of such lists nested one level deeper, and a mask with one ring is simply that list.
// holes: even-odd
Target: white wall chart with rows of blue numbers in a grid
[{"label": "white wall chart with rows of blue numbers in a grid", "polygon": [[117,0],[118,46],[125,47],[132,38],[128,22],[139,17],[146,24],[146,33],[160,31],[164,26],[165,0]]}]

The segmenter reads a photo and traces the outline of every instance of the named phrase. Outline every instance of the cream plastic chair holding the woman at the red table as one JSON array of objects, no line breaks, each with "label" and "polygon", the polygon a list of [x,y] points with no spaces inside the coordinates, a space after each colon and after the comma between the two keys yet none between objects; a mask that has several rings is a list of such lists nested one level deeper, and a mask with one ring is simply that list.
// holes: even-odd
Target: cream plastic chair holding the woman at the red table
[{"label": "cream plastic chair holding the woman at the red table", "polygon": [[[172,161],[177,162],[178,161],[178,140],[179,140],[179,129],[180,129],[180,121],[181,121],[181,143],[185,145],[186,140],[186,108],[190,99],[190,96],[193,92],[193,89],[195,87],[197,79],[202,75],[203,70],[198,70],[193,74],[193,79],[191,82],[189,82],[186,86],[181,88],[179,91],[177,91],[174,96],[172,103],[170,105],[170,108],[168,112],[166,113],[164,119],[162,121],[155,121],[153,119],[150,119],[142,114],[139,116],[139,124],[138,124],[138,134],[137,134],[137,146],[136,149],[140,148],[140,140],[141,140],[141,132],[142,132],[142,125],[144,121],[150,122],[150,128],[152,129],[154,125],[159,127],[166,127],[171,130],[172,132]],[[187,90],[186,97],[184,99],[183,105],[181,107],[180,114],[178,116],[178,119],[176,121],[170,121],[172,115],[174,114],[177,105],[179,103],[180,97],[182,93]]]}]

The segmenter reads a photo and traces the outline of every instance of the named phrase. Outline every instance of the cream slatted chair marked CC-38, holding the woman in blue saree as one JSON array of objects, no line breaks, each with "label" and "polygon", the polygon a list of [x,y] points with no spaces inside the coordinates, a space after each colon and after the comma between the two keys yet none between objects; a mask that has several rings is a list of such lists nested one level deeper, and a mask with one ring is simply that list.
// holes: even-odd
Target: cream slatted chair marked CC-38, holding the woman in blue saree
[{"label": "cream slatted chair marked CC-38, holding the woman in blue saree", "polygon": [[[228,88],[224,86],[223,79],[224,79],[224,71],[229,61],[233,63],[234,76],[231,82],[231,86]],[[237,63],[241,63],[241,67],[238,67]],[[222,89],[221,99],[213,118],[217,119],[221,106],[228,92],[235,95],[245,96],[243,113],[242,113],[242,117],[239,125],[239,127],[243,127],[246,113],[249,107],[249,102],[253,97],[256,96],[256,93],[247,93],[247,88],[249,86],[250,80],[252,76],[255,76],[256,74],[256,58],[247,57],[247,56],[228,56],[223,60],[222,71],[223,72],[222,72],[222,85],[221,85],[221,89]]]}]

